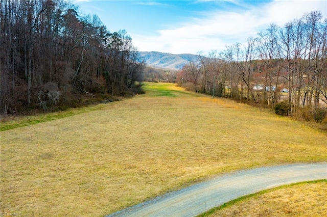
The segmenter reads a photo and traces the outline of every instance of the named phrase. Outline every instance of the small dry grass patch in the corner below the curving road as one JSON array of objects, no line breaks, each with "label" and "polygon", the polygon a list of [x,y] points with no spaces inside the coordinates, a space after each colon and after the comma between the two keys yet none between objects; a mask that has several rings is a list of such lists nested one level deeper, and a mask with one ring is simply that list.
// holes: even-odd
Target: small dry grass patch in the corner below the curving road
[{"label": "small dry grass patch in the corner below the curving road", "polygon": [[327,216],[326,196],[326,182],[303,183],[245,199],[209,216]]}]

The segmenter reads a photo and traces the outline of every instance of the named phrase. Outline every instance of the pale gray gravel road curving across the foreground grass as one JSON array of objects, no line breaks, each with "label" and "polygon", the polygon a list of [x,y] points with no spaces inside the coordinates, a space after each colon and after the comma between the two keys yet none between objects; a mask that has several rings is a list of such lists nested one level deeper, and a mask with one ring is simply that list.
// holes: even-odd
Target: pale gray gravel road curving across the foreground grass
[{"label": "pale gray gravel road curving across the foreground grass", "polygon": [[327,179],[326,162],[244,170],[168,193],[108,216],[196,216],[263,189],[318,179]]}]

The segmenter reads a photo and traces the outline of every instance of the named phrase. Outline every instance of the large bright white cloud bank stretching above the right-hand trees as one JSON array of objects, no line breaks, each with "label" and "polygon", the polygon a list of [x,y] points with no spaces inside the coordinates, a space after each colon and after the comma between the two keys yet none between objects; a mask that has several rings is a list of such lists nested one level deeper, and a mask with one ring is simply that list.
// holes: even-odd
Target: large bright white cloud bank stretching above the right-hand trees
[{"label": "large bright white cloud bank stretching above the right-hand trees", "polygon": [[283,26],[306,12],[320,10],[327,17],[325,1],[273,1],[245,8],[241,13],[215,11],[202,19],[190,18],[178,27],[159,30],[157,36],[133,35],[133,44],[141,51],[207,53],[223,50],[227,44],[244,43],[271,23]]}]

